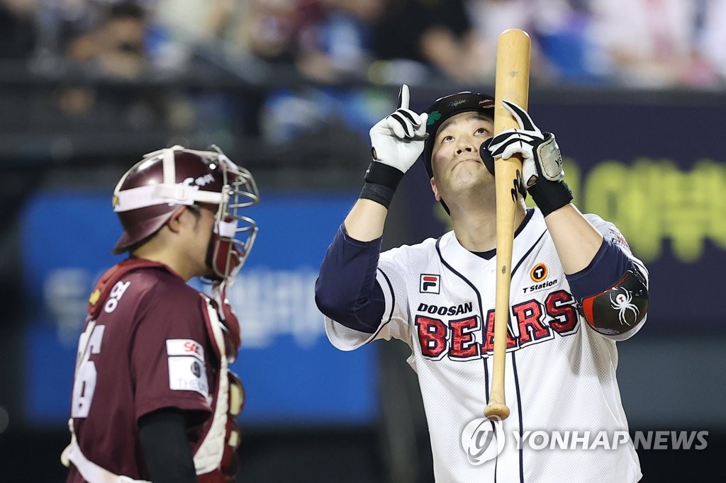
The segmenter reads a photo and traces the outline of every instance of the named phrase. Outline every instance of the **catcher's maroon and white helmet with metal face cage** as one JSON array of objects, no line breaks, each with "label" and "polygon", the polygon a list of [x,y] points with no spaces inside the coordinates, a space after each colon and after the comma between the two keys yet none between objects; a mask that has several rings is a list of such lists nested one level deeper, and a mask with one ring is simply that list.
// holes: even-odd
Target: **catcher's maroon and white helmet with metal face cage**
[{"label": "catcher's maroon and white helmet with metal face cage", "polygon": [[[255,205],[259,194],[248,170],[230,161],[216,146],[195,151],[183,146],[146,154],[118,181],[113,210],[124,233],[113,253],[127,252],[155,234],[181,205],[219,205],[208,265],[220,280],[233,278],[257,234],[254,220],[238,214]],[[244,233],[244,240],[235,239]]]}]

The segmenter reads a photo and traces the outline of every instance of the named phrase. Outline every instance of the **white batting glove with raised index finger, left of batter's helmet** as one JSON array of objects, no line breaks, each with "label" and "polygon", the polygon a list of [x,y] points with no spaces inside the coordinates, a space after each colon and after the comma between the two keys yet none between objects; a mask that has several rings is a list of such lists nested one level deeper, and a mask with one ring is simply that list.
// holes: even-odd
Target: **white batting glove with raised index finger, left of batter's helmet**
[{"label": "white batting glove with raised index finger, left of batter's helmet", "polygon": [[428,114],[409,110],[409,88],[399,91],[396,111],[370,129],[373,160],[406,173],[423,152]]}]

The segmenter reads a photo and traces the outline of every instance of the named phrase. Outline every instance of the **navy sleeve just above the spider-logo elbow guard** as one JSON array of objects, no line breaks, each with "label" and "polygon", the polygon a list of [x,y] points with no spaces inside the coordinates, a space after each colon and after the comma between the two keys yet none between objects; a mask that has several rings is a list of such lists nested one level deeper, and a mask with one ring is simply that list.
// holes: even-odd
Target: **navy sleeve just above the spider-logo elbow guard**
[{"label": "navy sleeve just above the spider-logo elbow guard", "polygon": [[605,292],[630,268],[628,255],[612,241],[604,240],[595,257],[583,270],[567,275],[572,294],[577,299]]}]

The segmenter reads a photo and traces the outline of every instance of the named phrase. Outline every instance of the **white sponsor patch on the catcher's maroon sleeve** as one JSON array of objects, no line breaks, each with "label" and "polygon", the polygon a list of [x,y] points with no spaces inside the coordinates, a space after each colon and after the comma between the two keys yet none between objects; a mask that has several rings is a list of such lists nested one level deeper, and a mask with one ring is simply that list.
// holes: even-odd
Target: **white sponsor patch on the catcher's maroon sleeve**
[{"label": "white sponsor patch on the catcher's maroon sleeve", "polygon": [[167,339],[169,389],[196,391],[207,396],[209,384],[204,360],[204,347],[192,339]]}]

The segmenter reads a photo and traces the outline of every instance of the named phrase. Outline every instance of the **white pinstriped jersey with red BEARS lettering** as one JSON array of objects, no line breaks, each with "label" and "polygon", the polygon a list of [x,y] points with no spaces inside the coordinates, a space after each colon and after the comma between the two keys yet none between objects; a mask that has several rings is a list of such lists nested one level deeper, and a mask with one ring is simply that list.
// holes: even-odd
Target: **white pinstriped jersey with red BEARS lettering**
[{"label": "white pinstriped jersey with red BEARS lettering", "polygon": [[[631,255],[612,223],[586,216]],[[643,263],[633,260],[647,279]],[[496,257],[469,252],[453,231],[383,252],[378,283],[386,311],[378,331],[366,334],[326,318],[327,336],[340,350],[375,339],[409,344],[437,482],[637,481],[640,463],[627,437],[615,341],[577,312],[539,210],[515,236],[511,266],[505,371],[511,413],[497,424],[504,435],[497,433],[498,444],[504,439],[498,456],[491,448],[480,454],[486,449],[481,429],[492,424],[473,422],[483,418],[491,387]]]}]

